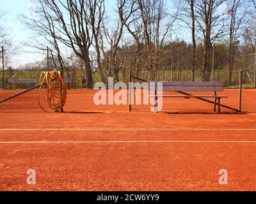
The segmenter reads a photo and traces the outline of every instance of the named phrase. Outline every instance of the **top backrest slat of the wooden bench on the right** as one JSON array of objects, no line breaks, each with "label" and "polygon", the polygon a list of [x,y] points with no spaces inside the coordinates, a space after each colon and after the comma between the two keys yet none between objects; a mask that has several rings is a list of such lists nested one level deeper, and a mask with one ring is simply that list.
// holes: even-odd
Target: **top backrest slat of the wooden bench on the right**
[{"label": "top backrest slat of the wooden bench on the right", "polygon": [[[159,82],[149,82],[150,86],[157,85]],[[177,86],[177,87],[223,87],[223,82],[161,82],[163,86]]]}]

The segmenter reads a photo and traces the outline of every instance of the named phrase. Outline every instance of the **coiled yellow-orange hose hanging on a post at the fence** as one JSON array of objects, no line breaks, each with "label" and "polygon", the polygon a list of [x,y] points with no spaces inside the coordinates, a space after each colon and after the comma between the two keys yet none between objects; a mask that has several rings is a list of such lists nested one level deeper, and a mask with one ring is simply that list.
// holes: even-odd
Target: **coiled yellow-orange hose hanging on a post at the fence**
[{"label": "coiled yellow-orange hose hanging on a post at the fence", "polygon": [[67,99],[67,88],[60,71],[44,71],[40,75],[38,104],[45,112],[58,112]]}]

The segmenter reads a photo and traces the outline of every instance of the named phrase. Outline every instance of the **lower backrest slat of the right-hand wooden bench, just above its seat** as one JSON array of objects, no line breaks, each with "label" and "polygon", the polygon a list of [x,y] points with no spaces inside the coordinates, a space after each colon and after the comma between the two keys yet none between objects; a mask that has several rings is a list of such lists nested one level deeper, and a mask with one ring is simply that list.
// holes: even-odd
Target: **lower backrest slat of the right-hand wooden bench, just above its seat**
[{"label": "lower backrest slat of the right-hand wooden bench, just above its seat", "polygon": [[[149,90],[158,90],[156,86],[150,86]],[[223,87],[163,87],[163,91],[223,91]]]}]

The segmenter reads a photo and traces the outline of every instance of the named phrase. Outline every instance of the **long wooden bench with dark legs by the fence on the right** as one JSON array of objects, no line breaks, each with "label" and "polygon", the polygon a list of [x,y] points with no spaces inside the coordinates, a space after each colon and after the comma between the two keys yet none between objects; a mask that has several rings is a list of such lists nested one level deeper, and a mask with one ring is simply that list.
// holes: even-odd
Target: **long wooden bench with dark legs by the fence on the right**
[{"label": "long wooden bench with dark legs by the fence on the right", "polygon": [[[157,101],[158,98],[163,97],[163,98],[196,98],[200,99],[202,101],[212,103],[214,105],[213,112],[216,112],[216,105],[218,105],[218,112],[220,113],[220,107],[221,103],[220,100],[221,98],[228,98],[228,96],[218,96],[217,91],[223,91],[223,83],[222,82],[160,82],[163,83],[163,91],[175,91],[179,92],[181,95],[163,95],[160,96],[157,94],[157,84],[159,82],[149,82],[149,91],[154,91],[154,95],[150,95],[149,97],[154,97],[155,98],[155,103],[154,103],[154,110],[157,113]],[[214,92],[213,95],[192,95],[186,93],[186,91],[198,91],[198,92]],[[206,98],[214,98],[214,102],[207,100]]]}]

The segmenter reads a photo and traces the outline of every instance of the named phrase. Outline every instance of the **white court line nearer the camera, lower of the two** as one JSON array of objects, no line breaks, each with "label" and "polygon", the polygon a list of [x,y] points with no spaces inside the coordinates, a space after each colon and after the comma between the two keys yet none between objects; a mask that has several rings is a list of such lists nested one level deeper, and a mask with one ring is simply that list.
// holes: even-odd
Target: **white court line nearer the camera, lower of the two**
[{"label": "white court line nearer the camera, lower of the two", "polygon": [[0,144],[49,144],[49,143],[256,143],[256,141],[239,141],[239,140],[234,140],[234,141],[193,141],[193,140],[167,140],[167,141],[136,141],[136,140],[131,140],[131,141],[31,141],[31,142],[26,142],[26,141],[18,141],[18,142],[0,142]]}]

